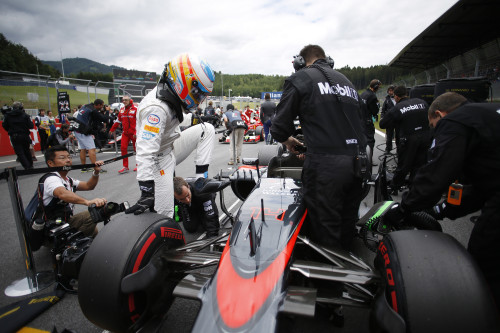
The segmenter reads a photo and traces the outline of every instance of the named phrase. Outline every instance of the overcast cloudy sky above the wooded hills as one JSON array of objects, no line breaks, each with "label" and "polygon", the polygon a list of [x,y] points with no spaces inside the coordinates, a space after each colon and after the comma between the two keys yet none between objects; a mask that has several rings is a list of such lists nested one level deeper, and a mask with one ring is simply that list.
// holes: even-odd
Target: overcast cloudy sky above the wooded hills
[{"label": "overcast cloudy sky above the wooded hills", "polygon": [[457,0],[1,0],[0,32],[41,60],[160,73],[193,52],[215,71],[280,74],[307,44],[335,67],[388,64]]}]

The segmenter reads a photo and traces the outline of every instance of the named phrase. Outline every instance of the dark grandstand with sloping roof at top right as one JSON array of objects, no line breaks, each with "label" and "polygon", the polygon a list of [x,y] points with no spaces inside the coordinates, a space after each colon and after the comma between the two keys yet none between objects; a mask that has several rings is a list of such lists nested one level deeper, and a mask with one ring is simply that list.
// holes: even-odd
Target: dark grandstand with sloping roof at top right
[{"label": "dark grandstand with sloping roof at top right", "polygon": [[500,1],[460,0],[406,45],[389,66],[412,75],[408,87],[441,79],[486,77],[500,100]]}]

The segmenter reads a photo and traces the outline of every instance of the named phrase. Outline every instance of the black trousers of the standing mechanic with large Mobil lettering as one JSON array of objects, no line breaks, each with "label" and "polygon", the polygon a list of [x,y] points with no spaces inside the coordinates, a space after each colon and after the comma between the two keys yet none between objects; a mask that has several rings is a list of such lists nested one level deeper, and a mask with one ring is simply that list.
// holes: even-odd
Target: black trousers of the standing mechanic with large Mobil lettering
[{"label": "black trousers of the standing mechanic with large Mobil lettering", "polygon": [[324,246],[349,249],[361,203],[361,178],[354,174],[354,157],[309,153],[302,181],[308,236]]}]

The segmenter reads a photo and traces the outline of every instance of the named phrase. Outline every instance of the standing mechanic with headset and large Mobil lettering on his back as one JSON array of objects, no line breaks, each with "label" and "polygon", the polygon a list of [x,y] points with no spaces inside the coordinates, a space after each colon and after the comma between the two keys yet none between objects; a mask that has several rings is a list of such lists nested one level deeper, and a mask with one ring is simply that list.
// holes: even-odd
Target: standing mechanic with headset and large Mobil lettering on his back
[{"label": "standing mechanic with headset and large Mobil lettering on his back", "polygon": [[285,81],[271,134],[298,153],[295,147],[302,143],[291,135],[299,116],[307,146],[302,181],[310,238],[349,249],[361,202],[362,177],[355,171],[355,160],[366,149],[362,101],[353,84],[332,69],[333,61],[327,61],[320,46],[305,46],[294,67],[296,73]]}]

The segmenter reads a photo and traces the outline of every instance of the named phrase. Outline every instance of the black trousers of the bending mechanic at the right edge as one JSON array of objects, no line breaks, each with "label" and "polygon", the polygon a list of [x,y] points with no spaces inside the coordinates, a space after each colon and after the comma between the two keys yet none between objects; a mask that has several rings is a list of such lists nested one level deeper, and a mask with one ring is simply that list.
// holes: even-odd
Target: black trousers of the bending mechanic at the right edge
[{"label": "black trousers of the bending mechanic at the right edge", "polygon": [[500,310],[500,192],[484,204],[472,229],[468,251],[483,272]]}]

